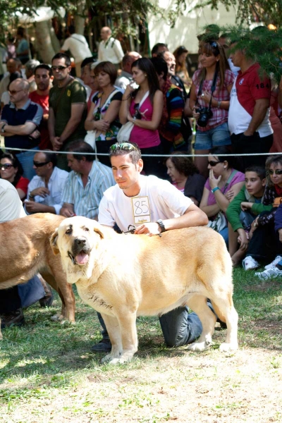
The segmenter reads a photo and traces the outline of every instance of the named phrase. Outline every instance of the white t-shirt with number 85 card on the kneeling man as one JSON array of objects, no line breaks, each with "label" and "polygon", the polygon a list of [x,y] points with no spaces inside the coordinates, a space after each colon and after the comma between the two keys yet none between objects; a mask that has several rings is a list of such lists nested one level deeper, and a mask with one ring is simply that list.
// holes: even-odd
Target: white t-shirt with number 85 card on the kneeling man
[{"label": "white t-shirt with number 85 card on the kneeling man", "polygon": [[129,225],[182,216],[192,204],[168,180],[140,175],[140,185],[135,197],[127,197],[118,185],[106,190],[99,205],[99,223],[111,227],[116,223],[121,231],[128,231]]}]

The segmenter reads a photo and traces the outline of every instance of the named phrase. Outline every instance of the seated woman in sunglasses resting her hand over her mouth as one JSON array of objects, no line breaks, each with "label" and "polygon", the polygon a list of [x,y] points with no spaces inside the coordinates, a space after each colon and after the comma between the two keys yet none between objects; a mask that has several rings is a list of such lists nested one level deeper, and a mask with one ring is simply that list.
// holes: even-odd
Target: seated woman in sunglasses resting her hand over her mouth
[{"label": "seated woman in sunglasses resting her hand over her mouth", "polygon": [[[220,155],[218,155],[220,154]],[[200,209],[207,214],[209,220],[216,219],[219,212],[226,213],[228,204],[238,194],[245,182],[245,175],[234,169],[235,159],[228,156],[227,147],[214,147],[208,158],[209,178],[204,185],[204,193]],[[221,214],[221,218],[224,218]],[[223,222],[219,233],[228,244],[227,221]]]}]

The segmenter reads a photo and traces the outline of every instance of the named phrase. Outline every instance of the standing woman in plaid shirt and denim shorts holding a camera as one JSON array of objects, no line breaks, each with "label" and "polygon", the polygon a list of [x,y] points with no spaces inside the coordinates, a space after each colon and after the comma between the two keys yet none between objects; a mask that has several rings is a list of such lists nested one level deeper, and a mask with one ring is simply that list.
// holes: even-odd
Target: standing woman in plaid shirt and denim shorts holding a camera
[{"label": "standing woman in plaid shirt and denim shorts holding a camera", "polygon": [[228,109],[234,75],[223,47],[216,41],[206,42],[200,49],[201,69],[192,77],[190,109],[197,120],[195,164],[207,175],[207,157],[212,147],[231,145],[228,130]]}]

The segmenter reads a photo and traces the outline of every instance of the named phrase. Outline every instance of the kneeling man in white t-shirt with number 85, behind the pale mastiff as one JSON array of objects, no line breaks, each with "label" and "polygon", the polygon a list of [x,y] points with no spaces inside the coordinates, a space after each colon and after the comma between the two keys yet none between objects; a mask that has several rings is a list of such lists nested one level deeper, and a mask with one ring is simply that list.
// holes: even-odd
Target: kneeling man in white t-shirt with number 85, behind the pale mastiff
[{"label": "kneeling man in white t-shirt with number 85, behind the pale mastiff", "polygon": [[[98,221],[121,231],[134,228],[135,235],[159,235],[164,231],[207,225],[207,215],[190,198],[185,197],[167,180],[140,175],[143,168],[140,149],[129,142],[110,148],[111,168],[116,185],[104,192],[99,205]],[[128,235],[134,236],[134,235]],[[98,314],[99,316],[99,314]],[[92,351],[109,351],[111,343],[102,317],[103,339]],[[170,347],[195,341],[202,333],[202,324],[187,307],[178,307],[159,318],[164,340]]]}]

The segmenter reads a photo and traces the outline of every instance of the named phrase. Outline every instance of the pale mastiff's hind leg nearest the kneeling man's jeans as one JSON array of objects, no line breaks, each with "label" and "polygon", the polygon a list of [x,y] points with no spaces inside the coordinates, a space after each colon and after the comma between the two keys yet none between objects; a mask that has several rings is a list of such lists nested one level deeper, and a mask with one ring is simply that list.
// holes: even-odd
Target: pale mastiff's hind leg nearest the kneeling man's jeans
[{"label": "pale mastiff's hind leg nearest the kneeling man's jeans", "polygon": [[202,323],[202,335],[190,345],[188,350],[202,351],[212,344],[212,336],[214,334],[214,325],[216,324],[216,315],[207,305],[207,298],[203,295],[193,295],[188,300],[188,307],[195,312]]}]

